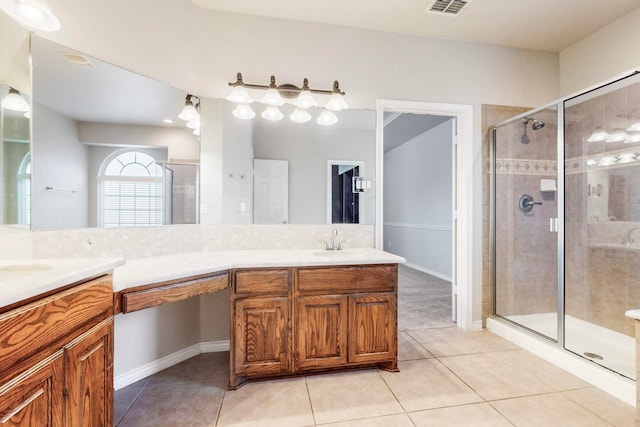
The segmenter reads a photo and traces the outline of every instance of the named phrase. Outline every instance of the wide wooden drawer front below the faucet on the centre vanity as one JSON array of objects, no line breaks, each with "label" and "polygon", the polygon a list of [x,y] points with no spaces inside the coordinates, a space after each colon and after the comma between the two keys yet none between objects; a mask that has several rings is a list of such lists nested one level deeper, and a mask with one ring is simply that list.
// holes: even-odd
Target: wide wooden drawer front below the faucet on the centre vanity
[{"label": "wide wooden drawer front below the faucet on the centre vanity", "polygon": [[298,269],[301,295],[386,292],[396,287],[396,264]]}]

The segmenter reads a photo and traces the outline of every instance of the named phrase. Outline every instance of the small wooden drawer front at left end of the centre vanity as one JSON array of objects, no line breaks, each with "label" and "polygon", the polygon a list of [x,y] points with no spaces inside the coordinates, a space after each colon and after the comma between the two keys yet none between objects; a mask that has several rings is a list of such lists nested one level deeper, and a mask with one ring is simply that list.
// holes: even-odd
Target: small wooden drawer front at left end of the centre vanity
[{"label": "small wooden drawer front at left end of the centre vanity", "polygon": [[282,295],[289,292],[289,269],[236,270],[234,290],[237,297]]}]

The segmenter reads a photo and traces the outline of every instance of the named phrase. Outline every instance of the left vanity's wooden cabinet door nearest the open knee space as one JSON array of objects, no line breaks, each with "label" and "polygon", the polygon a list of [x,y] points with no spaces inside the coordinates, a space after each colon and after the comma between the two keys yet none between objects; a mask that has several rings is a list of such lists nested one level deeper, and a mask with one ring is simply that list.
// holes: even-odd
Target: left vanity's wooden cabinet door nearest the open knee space
[{"label": "left vanity's wooden cabinet door nearest the open knee space", "polygon": [[65,347],[68,426],[113,424],[113,318]]}]

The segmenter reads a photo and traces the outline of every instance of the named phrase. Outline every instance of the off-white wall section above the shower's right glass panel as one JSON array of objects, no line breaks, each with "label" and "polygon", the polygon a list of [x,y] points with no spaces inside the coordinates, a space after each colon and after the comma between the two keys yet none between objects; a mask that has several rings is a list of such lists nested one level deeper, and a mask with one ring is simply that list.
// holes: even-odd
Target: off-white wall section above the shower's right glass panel
[{"label": "off-white wall section above the shower's right glass panel", "polygon": [[640,8],[564,49],[560,52],[560,95],[638,71],[639,44]]}]

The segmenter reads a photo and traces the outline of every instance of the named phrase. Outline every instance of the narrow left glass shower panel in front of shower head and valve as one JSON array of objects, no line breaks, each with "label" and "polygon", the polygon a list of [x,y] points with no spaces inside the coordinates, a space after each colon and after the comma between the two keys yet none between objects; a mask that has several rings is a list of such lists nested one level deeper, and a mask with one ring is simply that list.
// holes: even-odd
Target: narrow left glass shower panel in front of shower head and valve
[{"label": "narrow left glass shower panel in front of shower head and valve", "polygon": [[494,129],[496,315],[558,339],[557,110]]}]

